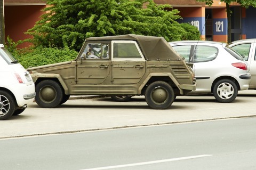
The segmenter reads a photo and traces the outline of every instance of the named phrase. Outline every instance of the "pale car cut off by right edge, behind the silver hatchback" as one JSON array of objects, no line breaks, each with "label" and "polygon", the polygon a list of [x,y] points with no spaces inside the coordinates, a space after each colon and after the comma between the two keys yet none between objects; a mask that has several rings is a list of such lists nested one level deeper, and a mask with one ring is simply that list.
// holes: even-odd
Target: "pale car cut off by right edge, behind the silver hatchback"
[{"label": "pale car cut off by right edge, behind the silver hatchback", "polygon": [[251,82],[249,89],[256,90],[256,39],[242,39],[228,44],[233,50],[244,57],[249,64]]}]

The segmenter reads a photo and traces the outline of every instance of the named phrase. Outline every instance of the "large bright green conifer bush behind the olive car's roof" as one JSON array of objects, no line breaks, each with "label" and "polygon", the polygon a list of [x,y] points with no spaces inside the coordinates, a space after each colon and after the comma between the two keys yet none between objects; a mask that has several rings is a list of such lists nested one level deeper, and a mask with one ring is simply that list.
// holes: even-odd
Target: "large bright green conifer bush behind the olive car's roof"
[{"label": "large bright green conifer bush behind the olive car's roof", "polygon": [[[36,25],[27,31],[30,42],[45,47],[79,50],[87,37],[138,34],[163,36],[166,41],[195,39],[194,26],[181,26],[181,17],[170,5],[153,0],[47,0],[49,7]],[[146,8],[143,5],[146,4]],[[185,28],[186,27],[186,28]],[[190,29],[189,29],[189,28]],[[186,29],[186,30],[185,30]]]}]

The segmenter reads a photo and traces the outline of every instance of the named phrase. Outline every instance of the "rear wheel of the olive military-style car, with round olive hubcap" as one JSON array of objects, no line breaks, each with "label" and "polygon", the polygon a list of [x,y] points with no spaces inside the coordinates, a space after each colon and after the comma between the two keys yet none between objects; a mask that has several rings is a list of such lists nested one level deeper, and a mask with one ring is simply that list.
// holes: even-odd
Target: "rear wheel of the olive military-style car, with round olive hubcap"
[{"label": "rear wheel of the olive military-style car, with round olive hubcap", "polygon": [[167,109],[174,101],[174,91],[170,84],[157,81],[148,85],[145,99],[148,106],[153,109]]}]

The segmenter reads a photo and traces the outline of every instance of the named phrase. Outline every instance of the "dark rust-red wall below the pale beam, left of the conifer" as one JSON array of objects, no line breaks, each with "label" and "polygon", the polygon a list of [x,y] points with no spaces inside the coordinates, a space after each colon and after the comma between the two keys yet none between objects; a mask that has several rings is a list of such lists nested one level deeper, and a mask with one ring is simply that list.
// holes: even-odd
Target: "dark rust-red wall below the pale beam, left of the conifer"
[{"label": "dark rust-red wall below the pale beam, left of the conifer", "polygon": [[[9,36],[14,42],[29,38],[24,33],[34,27],[43,14],[41,10],[44,7],[45,5],[5,6],[5,37]],[[19,47],[27,45],[24,43]]]}]

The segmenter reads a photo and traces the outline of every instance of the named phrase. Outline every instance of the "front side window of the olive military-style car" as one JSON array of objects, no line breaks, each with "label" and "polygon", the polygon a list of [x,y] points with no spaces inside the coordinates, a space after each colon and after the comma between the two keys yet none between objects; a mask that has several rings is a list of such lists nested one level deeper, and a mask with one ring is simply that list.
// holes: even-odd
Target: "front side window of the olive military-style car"
[{"label": "front side window of the olive military-style car", "polygon": [[88,43],[84,49],[83,56],[86,59],[101,60],[109,59],[108,43]]}]

